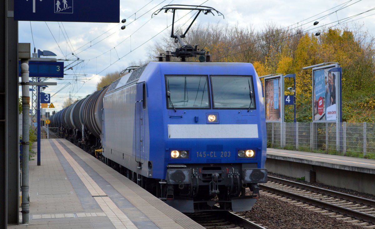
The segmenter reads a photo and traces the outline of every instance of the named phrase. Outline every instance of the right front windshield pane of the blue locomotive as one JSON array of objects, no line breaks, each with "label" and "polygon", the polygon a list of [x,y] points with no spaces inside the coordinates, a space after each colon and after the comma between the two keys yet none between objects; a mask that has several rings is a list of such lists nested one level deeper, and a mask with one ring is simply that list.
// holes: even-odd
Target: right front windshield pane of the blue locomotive
[{"label": "right front windshield pane of the blue locomotive", "polygon": [[252,76],[211,76],[216,109],[255,109]]}]

